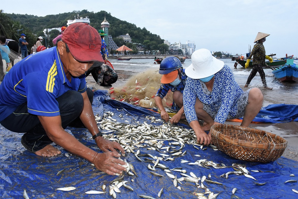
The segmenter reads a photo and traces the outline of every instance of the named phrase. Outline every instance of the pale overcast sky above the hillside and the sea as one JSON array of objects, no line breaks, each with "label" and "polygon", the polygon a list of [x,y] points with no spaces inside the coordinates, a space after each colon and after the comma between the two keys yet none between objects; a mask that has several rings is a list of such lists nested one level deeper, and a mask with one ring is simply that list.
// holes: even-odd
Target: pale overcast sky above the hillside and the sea
[{"label": "pale overcast sky above the hillside and the sea", "polygon": [[232,54],[248,52],[249,45],[253,48],[257,33],[264,32],[270,34],[264,43],[267,55],[298,56],[297,0],[31,0],[17,6],[4,6],[2,10],[37,16],[73,10],[94,13],[105,10],[120,20],[146,27],[170,43],[194,41],[196,49]]}]

